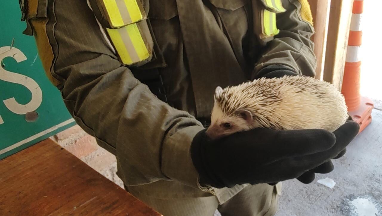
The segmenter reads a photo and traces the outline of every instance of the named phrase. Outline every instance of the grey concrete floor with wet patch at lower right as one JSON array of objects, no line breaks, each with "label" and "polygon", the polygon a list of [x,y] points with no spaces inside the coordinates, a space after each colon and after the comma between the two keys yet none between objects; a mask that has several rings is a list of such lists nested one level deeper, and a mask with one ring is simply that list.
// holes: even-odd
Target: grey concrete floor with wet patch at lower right
[{"label": "grey concrete floor with wet patch at lower right", "polygon": [[[276,216],[382,216],[382,111],[374,109],[372,117],[333,172],[309,185],[283,182]],[[317,183],[326,177],[336,182],[332,189]]]}]

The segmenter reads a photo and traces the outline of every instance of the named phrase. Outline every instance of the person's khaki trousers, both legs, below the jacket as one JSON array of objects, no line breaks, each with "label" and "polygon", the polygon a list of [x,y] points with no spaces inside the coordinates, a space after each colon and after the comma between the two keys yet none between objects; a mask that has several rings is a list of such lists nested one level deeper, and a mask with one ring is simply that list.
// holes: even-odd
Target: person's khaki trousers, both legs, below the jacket
[{"label": "person's khaki trousers, both legs, below the jacket", "polygon": [[140,186],[126,186],[134,197],[164,216],[272,216],[277,211],[278,193],[268,184],[249,185],[235,196],[219,204],[215,196],[193,198],[157,198],[139,192]]}]

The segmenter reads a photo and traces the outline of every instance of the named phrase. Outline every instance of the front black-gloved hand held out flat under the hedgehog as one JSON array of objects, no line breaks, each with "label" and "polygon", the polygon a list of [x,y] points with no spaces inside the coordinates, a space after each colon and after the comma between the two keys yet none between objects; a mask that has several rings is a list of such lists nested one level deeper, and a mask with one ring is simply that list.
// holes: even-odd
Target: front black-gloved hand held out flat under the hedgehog
[{"label": "front black-gloved hand held out flat under the hedgehog", "polygon": [[333,133],[260,128],[214,141],[203,130],[194,137],[191,158],[201,185],[222,188],[280,182],[298,178],[335,158],[358,130],[359,125],[350,121]]}]

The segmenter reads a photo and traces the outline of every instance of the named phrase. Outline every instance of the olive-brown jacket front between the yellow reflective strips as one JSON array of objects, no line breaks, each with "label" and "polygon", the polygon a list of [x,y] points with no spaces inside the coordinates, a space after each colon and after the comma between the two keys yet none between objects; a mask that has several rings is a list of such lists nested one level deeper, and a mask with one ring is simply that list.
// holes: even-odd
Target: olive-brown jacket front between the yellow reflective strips
[{"label": "olive-brown jacket front between the yellow reflective strips", "polygon": [[159,69],[169,105],[209,118],[217,86],[250,79],[258,54],[251,52],[259,47],[252,10],[250,0],[149,1],[156,55],[164,62],[143,68]]}]

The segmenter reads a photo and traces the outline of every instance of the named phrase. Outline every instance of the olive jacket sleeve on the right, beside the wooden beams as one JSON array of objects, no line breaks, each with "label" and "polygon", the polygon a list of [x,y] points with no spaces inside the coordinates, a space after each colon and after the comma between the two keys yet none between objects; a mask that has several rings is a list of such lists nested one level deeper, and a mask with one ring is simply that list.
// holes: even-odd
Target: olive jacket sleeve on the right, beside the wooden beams
[{"label": "olive jacket sleeve on the right, beside the wooden beams", "polygon": [[299,74],[315,76],[317,59],[313,52],[314,44],[310,40],[314,28],[302,18],[310,13],[307,11],[310,9],[302,7],[303,0],[282,2],[286,11],[277,14],[277,28],[280,29],[280,33],[266,45],[253,75],[256,76],[259,70],[270,64],[284,64]]}]

